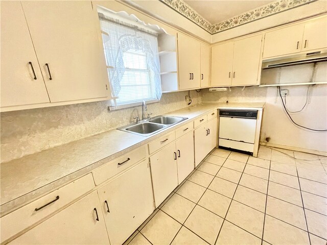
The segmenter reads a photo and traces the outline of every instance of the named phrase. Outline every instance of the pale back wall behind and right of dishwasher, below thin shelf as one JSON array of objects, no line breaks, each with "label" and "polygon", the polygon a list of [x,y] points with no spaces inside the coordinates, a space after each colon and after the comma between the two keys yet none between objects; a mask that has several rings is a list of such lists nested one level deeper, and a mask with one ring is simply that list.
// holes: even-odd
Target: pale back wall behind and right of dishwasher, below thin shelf
[{"label": "pale back wall behind and right of dishwasher, below thin shelf", "polygon": [[[312,85],[311,85],[312,86]],[[287,104],[289,110],[301,109],[306,101],[308,86],[285,86],[289,90]],[[306,108],[292,115],[298,124],[314,129],[327,129],[327,85],[314,85]],[[269,143],[286,145],[300,149],[327,152],[327,132],[313,132],[301,129],[290,121],[285,113],[277,87],[233,87],[231,91],[201,92],[202,102],[265,102],[261,141],[270,137]]]}]

